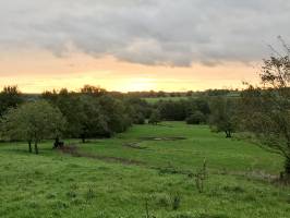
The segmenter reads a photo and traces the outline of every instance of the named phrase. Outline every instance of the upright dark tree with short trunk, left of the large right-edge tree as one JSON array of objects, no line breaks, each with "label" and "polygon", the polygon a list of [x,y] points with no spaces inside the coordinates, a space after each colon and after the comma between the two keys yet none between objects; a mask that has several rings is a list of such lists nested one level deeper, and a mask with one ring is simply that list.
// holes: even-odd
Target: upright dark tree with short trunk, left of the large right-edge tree
[{"label": "upright dark tree with short trunk, left of the large right-edge tree", "polygon": [[237,128],[237,104],[227,97],[217,97],[212,102],[209,124],[217,132],[225,132],[226,137],[231,137]]}]

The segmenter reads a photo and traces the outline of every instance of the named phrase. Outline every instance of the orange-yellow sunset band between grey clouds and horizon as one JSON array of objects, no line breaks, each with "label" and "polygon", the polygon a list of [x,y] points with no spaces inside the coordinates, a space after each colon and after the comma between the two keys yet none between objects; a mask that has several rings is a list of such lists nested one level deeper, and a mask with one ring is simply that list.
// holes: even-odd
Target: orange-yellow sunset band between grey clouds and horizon
[{"label": "orange-yellow sunset band between grey clouds and horizon", "polygon": [[108,90],[185,92],[208,88],[241,88],[242,82],[257,82],[258,63],[228,62],[215,66],[193,63],[190,68],[142,65],[112,57],[95,59],[74,53],[56,58],[49,52],[22,52],[13,58],[0,55],[0,87],[19,85],[23,93],[67,87],[77,90],[84,84]]}]

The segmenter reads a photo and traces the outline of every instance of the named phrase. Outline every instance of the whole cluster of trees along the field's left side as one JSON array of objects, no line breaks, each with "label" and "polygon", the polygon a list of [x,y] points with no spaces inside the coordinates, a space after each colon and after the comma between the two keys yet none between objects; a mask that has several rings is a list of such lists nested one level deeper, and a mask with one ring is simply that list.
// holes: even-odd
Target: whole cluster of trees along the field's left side
[{"label": "whole cluster of trees along the field's left side", "polygon": [[146,101],[118,98],[105,89],[85,85],[81,92],[45,92],[27,99],[16,86],[7,86],[0,93],[0,138],[26,141],[28,150],[38,143],[53,138],[111,137],[124,132],[133,123],[145,123],[149,109]]}]

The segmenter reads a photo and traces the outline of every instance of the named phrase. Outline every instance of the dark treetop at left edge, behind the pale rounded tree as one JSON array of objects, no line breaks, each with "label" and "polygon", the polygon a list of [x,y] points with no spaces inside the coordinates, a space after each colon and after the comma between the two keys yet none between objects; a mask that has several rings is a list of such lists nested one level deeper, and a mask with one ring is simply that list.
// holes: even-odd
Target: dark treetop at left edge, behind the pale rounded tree
[{"label": "dark treetop at left edge, behind the pale rounded tree", "polygon": [[15,108],[23,102],[23,97],[17,86],[5,86],[0,93],[0,116],[9,108]]}]

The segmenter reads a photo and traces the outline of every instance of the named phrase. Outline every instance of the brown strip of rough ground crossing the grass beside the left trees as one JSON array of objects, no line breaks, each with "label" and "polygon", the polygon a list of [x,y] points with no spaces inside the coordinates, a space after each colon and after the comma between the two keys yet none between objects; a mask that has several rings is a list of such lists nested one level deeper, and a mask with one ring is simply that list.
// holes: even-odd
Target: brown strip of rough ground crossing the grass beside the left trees
[{"label": "brown strip of rough ground crossing the grass beside the left trees", "polygon": [[121,162],[123,165],[136,165],[136,166],[144,166],[145,165],[145,162],[138,161],[138,160],[83,153],[83,152],[78,150],[76,145],[64,146],[64,147],[60,148],[60,150],[64,154],[70,154],[73,157],[87,157],[87,158],[92,158],[92,159],[104,160],[107,162]]}]

